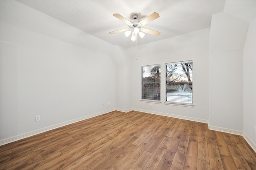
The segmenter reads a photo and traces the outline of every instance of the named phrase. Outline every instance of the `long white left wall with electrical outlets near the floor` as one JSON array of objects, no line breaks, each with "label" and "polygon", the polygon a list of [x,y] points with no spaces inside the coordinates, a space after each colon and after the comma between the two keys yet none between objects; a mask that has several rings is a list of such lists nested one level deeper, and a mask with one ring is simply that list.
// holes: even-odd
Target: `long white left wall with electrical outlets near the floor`
[{"label": "long white left wall with electrical outlets near the floor", "polygon": [[109,55],[0,25],[0,140],[115,109]]}]

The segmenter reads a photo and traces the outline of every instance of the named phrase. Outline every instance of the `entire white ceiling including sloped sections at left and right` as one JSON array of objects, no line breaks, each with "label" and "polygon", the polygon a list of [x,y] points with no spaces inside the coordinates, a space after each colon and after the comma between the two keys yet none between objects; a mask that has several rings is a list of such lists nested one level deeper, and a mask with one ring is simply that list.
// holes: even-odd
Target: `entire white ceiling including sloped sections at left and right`
[{"label": "entire white ceiling including sloped sections at left and right", "polygon": [[[208,28],[212,15],[220,12],[246,23],[256,16],[256,0],[0,0],[0,4],[2,22],[18,23],[31,31],[86,47],[94,47],[98,41],[90,42],[88,36],[81,36],[74,29],[81,30],[84,35],[98,37],[110,45],[129,48]],[[23,6],[27,7],[26,12]],[[138,37],[137,42],[133,42],[123,32],[109,34],[128,28],[124,22],[112,16],[114,13],[128,20],[132,20],[133,14],[138,14],[138,20],[143,20],[153,12],[157,12],[160,18],[144,27],[160,31],[159,36],[146,34],[143,39]],[[74,28],[72,33],[71,28]],[[93,49],[98,47],[96,45]]]}]

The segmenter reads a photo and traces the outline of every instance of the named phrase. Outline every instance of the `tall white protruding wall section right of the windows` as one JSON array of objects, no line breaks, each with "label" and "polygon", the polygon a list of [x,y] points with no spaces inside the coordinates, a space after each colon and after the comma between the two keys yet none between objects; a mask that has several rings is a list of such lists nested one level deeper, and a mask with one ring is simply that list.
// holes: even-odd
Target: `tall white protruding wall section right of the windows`
[{"label": "tall white protruding wall section right of the windows", "polygon": [[248,23],[225,12],[212,15],[210,127],[243,129],[243,47]]}]

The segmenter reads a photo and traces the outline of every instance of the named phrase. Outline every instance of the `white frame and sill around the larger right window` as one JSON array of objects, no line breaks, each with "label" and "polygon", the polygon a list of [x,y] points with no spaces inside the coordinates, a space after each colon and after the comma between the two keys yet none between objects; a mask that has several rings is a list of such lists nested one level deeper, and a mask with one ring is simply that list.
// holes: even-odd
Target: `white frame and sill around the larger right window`
[{"label": "white frame and sill around the larger right window", "polygon": [[[165,64],[165,73],[166,73],[166,75],[165,75],[165,102],[164,102],[164,104],[166,104],[166,105],[174,105],[174,106],[186,106],[186,107],[194,107],[194,102],[193,102],[193,96],[194,96],[194,94],[193,94],[193,91],[192,91],[192,103],[190,104],[190,103],[184,103],[184,101],[183,102],[175,102],[175,101],[167,101],[167,96],[168,96],[168,74],[167,74],[167,65],[170,65],[170,64],[180,64],[180,63],[193,63],[193,61],[192,60],[189,60],[189,61],[178,61],[178,62],[172,62],[172,63],[166,63]],[[192,77],[193,77],[193,70],[191,70],[192,72]],[[193,80],[191,81],[191,83],[192,83],[192,89],[193,89]]]}]

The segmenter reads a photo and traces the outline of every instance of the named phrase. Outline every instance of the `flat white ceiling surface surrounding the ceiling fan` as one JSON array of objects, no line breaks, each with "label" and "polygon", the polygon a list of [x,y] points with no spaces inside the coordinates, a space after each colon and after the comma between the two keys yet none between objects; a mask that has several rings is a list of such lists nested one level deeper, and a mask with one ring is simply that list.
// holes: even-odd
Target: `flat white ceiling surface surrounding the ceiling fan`
[{"label": "flat white ceiling surface surrounding the ceiling fan", "polygon": [[225,0],[17,0],[18,2],[63,21],[113,45],[135,46],[124,33],[109,32],[128,28],[114,13],[132,20],[143,20],[153,12],[160,18],[144,27],[160,31],[159,36],[138,37],[137,45],[210,27],[211,16],[222,12]]}]

